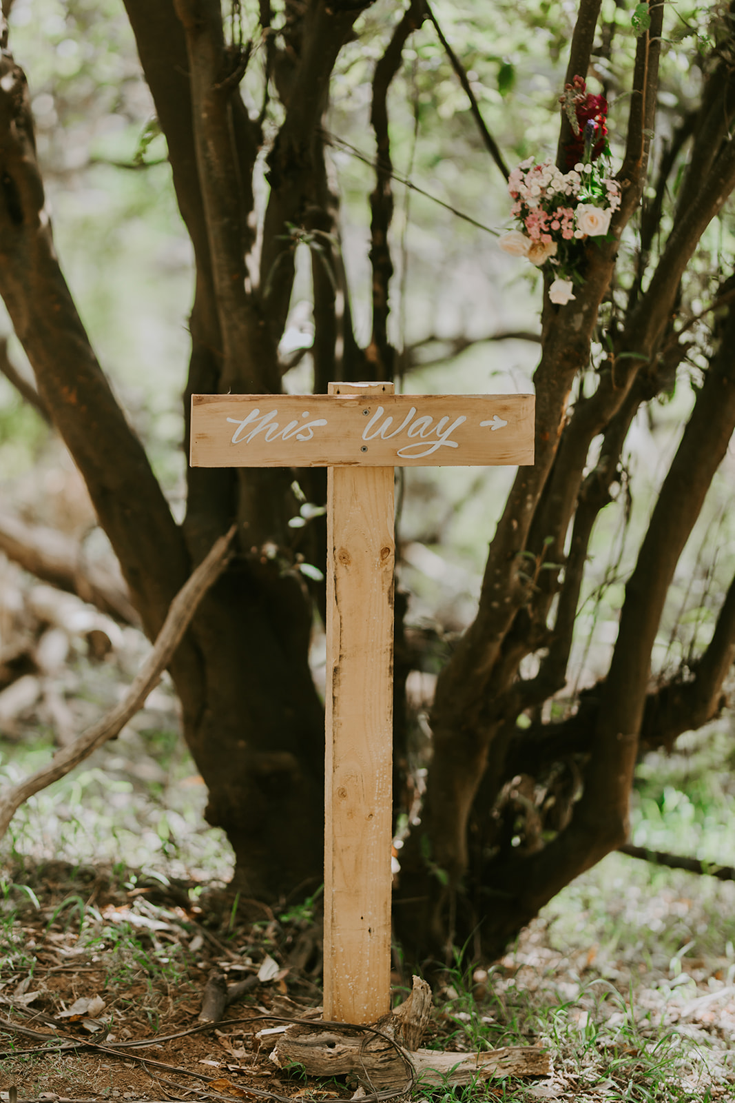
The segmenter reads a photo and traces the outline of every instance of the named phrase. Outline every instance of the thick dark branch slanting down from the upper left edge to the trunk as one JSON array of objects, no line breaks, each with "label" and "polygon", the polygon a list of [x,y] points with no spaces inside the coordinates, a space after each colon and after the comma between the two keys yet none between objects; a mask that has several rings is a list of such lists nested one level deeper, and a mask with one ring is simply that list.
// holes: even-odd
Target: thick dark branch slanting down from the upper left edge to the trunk
[{"label": "thick dark branch slanting down from the upper left edge to the trunk", "polygon": [[39,394],[89,488],[145,630],[155,635],[188,574],[186,552],[58,267],[25,77],[8,52],[0,57],[0,293]]}]

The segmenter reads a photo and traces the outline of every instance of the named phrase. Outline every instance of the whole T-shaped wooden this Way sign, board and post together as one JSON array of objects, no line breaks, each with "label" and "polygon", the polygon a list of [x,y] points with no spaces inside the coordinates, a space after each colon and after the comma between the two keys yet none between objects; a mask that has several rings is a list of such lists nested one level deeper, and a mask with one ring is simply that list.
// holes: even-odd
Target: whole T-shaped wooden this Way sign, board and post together
[{"label": "whole T-shaped wooden this Way sign, board and post together", "polygon": [[390,1009],[393,468],[533,462],[532,395],[194,395],[194,467],[327,467],[324,1018]]}]

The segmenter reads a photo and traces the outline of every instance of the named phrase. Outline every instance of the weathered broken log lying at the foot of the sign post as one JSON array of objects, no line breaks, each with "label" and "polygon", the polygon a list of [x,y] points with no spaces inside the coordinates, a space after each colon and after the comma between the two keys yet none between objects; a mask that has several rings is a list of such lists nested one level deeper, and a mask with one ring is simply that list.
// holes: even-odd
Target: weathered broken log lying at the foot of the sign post
[{"label": "weathered broken log lying at the foot of the sign post", "polygon": [[419,1049],[430,1014],[429,985],[414,977],[406,1003],[372,1024],[382,1037],[357,1026],[295,1024],[279,1038],[273,1060],[281,1068],[298,1062],[313,1077],[354,1075],[368,1091],[401,1090],[411,1075],[422,1084],[460,1085],[551,1074],[549,1054],[531,1046],[477,1053]]}]

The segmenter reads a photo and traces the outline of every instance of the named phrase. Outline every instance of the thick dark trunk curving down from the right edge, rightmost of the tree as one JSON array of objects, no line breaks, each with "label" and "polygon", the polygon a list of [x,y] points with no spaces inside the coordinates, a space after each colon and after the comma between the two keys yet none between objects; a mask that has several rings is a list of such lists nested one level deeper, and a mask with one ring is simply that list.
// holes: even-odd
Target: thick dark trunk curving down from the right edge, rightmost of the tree
[{"label": "thick dark trunk curving down from the right edge, rightmost of the tree", "polygon": [[[528,859],[521,909],[530,907],[531,914],[571,877],[619,846],[627,834],[638,733],[661,611],[681,550],[735,429],[735,364],[729,354],[734,341],[735,311],[731,311],[720,352],[698,395],[626,587],[617,643],[601,688],[582,799],[570,826],[542,856]],[[499,871],[500,885],[504,876]]]}]

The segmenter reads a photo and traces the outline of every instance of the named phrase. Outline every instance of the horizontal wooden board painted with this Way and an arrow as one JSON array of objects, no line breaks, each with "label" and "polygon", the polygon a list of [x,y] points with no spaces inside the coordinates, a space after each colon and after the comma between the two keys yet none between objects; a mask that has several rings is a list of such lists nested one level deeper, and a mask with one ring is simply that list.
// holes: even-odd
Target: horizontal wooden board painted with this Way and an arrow
[{"label": "horizontal wooden board painted with this Way and an arrow", "polygon": [[[359,389],[359,388],[354,388]],[[533,463],[533,395],[193,395],[193,467]]]}]

